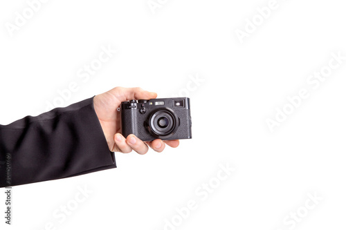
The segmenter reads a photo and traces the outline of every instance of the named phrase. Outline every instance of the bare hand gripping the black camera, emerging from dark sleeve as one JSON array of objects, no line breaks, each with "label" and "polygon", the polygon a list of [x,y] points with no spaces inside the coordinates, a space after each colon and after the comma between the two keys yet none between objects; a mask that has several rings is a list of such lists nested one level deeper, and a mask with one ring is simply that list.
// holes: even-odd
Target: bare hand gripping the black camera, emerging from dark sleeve
[{"label": "bare hand gripping the black camera, emerging from dark sleeve", "polygon": [[179,146],[179,140],[162,141],[156,139],[152,142],[143,142],[133,134],[125,138],[119,133],[120,113],[116,109],[120,106],[121,102],[130,99],[153,99],[156,97],[156,93],[150,93],[141,88],[116,87],[93,98],[93,106],[100,120],[110,151],[130,153],[134,150],[139,154],[145,154],[148,151],[148,145],[156,152],[162,152],[165,144],[173,148]]}]

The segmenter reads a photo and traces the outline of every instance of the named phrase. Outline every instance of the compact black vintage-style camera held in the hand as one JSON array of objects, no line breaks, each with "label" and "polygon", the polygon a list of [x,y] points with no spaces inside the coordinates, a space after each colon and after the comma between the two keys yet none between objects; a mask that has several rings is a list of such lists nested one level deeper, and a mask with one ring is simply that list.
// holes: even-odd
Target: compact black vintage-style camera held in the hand
[{"label": "compact black vintage-style camera held in the hand", "polygon": [[122,102],[120,118],[124,137],[132,133],[143,141],[192,138],[188,97]]}]

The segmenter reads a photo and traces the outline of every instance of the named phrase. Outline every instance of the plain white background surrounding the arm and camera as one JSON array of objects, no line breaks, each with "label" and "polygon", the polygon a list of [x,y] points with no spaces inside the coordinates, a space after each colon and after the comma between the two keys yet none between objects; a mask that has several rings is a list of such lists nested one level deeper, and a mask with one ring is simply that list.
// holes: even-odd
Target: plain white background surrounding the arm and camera
[{"label": "plain white background surrounding the arm and camera", "polygon": [[[10,36],[6,25],[28,3],[1,1],[0,124],[45,112],[71,82],[79,89],[63,106],[140,86],[158,97],[188,94],[193,139],[163,153],[116,153],[117,169],[16,186],[13,225],[1,214],[0,228],[345,229],[346,60],[318,88],[307,84],[332,52],[346,56],[345,3],[277,0],[241,43],[237,29],[269,1],[154,2],[155,13],[146,0],[51,0]],[[83,82],[78,70],[101,46],[117,53]],[[266,119],[301,88],[309,97],[271,132]],[[217,182],[219,164],[235,171],[202,200],[196,191]],[[93,192],[60,223],[53,213],[78,186]],[[304,207],[309,193],[322,198],[313,209]],[[179,219],[189,200],[197,209]],[[285,224],[297,211],[303,217]],[[165,226],[172,218],[176,226]]]}]

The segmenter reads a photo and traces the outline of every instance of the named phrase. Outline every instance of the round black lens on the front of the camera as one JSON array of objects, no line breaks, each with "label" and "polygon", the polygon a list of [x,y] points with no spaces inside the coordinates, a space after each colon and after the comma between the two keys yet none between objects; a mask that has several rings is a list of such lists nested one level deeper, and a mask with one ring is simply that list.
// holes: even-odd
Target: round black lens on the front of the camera
[{"label": "round black lens on the front of the camera", "polygon": [[149,116],[149,132],[157,138],[170,137],[179,126],[179,118],[170,108],[160,108]]}]

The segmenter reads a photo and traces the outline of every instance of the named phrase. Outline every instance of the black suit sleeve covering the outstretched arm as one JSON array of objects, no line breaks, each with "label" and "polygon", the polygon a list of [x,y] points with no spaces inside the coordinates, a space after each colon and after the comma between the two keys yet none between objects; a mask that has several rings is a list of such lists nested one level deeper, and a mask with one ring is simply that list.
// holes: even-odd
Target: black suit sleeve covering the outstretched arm
[{"label": "black suit sleeve covering the outstretched arm", "polygon": [[0,125],[0,187],[116,168],[93,97]]}]

